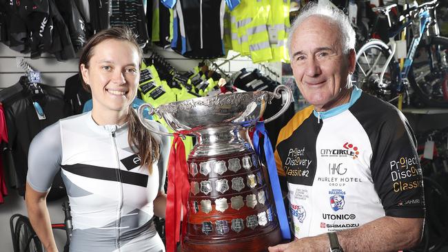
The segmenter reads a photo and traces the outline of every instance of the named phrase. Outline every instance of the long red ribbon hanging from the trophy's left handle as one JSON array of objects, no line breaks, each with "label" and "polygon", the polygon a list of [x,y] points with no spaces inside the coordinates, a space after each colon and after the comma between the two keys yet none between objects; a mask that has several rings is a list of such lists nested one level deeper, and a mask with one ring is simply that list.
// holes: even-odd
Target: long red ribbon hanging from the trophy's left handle
[{"label": "long red ribbon hanging from the trophy's left handle", "polygon": [[[165,238],[167,252],[176,250],[177,242],[183,242],[182,238],[187,233],[187,201],[190,193],[188,182],[188,167],[185,160],[185,146],[179,133],[174,133],[171,145],[170,161],[168,162],[168,190],[167,206],[165,211]],[[181,234],[181,209],[182,234]]]}]

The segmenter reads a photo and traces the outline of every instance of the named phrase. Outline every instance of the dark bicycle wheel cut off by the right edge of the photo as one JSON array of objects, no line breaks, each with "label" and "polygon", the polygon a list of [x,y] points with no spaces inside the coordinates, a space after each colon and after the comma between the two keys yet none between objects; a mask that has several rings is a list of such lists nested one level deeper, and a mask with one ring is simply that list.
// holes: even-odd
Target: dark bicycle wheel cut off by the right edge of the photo
[{"label": "dark bicycle wheel cut off by the right edge of the photo", "polygon": [[[414,90],[416,107],[448,107],[448,38],[437,37],[420,45],[407,79]],[[432,65],[432,67],[431,67]]]}]

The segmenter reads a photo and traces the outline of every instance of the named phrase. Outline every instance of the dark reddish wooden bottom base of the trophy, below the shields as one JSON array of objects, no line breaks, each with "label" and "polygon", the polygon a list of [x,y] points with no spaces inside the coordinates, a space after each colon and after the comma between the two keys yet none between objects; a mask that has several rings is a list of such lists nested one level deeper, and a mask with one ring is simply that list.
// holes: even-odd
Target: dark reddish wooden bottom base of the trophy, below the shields
[{"label": "dark reddish wooden bottom base of the trophy, below the shields", "polygon": [[213,252],[265,252],[268,246],[275,246],[281,244],[283,241],[280,227],[270,231],[269,233],[262,233],[261,235],[254,235],[245,238],[232,238],[223,242],[214,240],[188,241],[185,240],[182,251],[197,252],[197,251],[213,251]]}]

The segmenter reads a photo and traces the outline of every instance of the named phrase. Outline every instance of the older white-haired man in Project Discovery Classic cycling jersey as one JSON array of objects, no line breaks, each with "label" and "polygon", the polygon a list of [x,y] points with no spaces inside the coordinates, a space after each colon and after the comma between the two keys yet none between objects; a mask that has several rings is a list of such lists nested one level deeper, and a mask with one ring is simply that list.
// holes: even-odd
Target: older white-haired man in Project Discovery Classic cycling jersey
[{"label": "older white-haired man in Project Discovery Classic cycling jersey", "polygon": [[292,25],[294,78],[312,104],[276,145],[295,240],[269,251],[398,251],[422,235],[414,134],[398,109],[352,86],[355,32],[340,10],[310,4]]}]

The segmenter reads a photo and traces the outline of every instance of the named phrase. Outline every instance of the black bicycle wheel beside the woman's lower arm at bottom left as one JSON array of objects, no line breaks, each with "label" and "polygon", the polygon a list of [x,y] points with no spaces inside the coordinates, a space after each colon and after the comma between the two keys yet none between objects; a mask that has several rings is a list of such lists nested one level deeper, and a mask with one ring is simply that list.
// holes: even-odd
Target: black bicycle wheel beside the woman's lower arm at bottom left
[{"label": "black bicycle wheel beside the woman's lower arm at bottom left", "polygon": [[20,216],[15,224],[15,237],[17,241],[17,252],[43,252],[41,241],[31,227],[30,220]]}]

